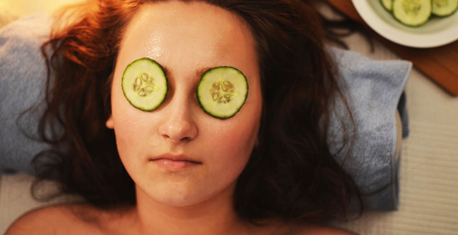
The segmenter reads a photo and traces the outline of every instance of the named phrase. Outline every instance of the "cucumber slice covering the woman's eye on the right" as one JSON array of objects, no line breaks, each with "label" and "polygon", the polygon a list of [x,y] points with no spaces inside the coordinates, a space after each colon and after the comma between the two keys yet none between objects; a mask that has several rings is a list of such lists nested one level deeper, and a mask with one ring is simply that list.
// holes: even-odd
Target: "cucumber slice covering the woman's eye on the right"
[{"label": "cucumber slice covering the woman's eye on the right", "polygon": [[215,67],[202,75],[196,96],[203,111],[212,117],[233,117],[245,104],[248,81],[239,69]]}]

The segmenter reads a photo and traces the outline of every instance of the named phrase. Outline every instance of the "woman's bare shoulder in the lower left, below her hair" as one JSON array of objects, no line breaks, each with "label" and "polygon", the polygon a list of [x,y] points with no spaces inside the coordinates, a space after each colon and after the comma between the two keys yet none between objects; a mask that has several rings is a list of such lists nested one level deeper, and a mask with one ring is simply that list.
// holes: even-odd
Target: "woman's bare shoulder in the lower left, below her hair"
[{"label": "woman's bare shoulder in the lower left, below her hair", "polygon": [[94,209],[87,204],[81,203],[36,208],[16,219],[10,225],[5,235],[60,234],[63,231],[65,231],[65,234],[69,234],[69,228],[71,228],[70,231],[75,233],[77,231],[93,230],[87,221],[77,216],[78,213],[82,213],[83,211],[94,211]]}]

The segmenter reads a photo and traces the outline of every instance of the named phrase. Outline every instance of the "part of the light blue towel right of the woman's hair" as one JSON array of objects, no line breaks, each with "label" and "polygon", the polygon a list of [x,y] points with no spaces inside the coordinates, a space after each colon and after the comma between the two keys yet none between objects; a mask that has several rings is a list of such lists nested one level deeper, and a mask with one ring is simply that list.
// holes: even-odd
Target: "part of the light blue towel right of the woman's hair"
[{"label": "part of the light blue towel right of the woman's hair", "polygon": [[[403,137],[409,134],[408,116],[403,89],[412,69],[405,60],[374,60],[362,54],[330,48],[338,63],[340,74],[347,85],[351,99],[350,110],[357,126],[353,150],[344,162],[344,169],[353,176],[362,193],[374,192],[393,182],[382,192],[363,197],[365,208],[371,210],[397,210],[399,202],[398,169],[396,161],[398,109],[403,123]],[[334,116],[344,117],[344,105],[339,102]],[[345,124],[348,124],[347,121]],[[332,118],[328,140],[333,153],[342,147],[341,127],[337,118]],[[336,155],[342,164],[344,148]],[[401,155],[401,153],[400,153]],[[400,156],[399,156],[400,159]],[[398,160],[399,160],[398,159]],[[354,208],[354,204],[351,206]]]}]

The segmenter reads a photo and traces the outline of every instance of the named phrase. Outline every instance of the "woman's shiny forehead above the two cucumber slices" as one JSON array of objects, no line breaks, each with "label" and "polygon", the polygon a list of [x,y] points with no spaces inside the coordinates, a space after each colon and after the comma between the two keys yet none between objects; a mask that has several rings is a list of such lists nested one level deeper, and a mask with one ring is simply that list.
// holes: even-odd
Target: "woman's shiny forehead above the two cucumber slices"
[{"label": "woman's shiny forehead above the two cucumber slices", "polygon": [[254,45],[248,25],[234,13],[199,1],[166,1],[142,6],[131,19],[118,62],[125,68],[149,57],[172,70],[233,66],[245,73],[257,67]]}]

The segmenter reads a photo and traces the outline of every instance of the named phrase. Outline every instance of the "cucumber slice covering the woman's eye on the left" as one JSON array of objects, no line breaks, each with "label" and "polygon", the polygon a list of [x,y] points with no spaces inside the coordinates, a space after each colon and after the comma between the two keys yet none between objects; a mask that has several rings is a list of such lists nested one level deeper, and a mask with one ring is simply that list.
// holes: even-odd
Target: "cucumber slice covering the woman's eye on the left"
[{"label": "cucumber slice covering the woman's eye on the left", "polygon": [[164,69],[153,59],[142,58],[127,65],[122,75],[124,96],[143,111],[153,111],[167,95],[167,77]]}]

